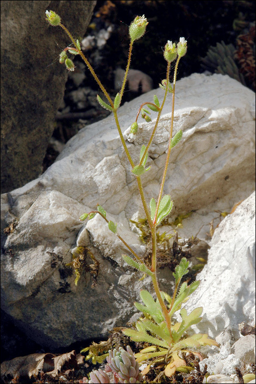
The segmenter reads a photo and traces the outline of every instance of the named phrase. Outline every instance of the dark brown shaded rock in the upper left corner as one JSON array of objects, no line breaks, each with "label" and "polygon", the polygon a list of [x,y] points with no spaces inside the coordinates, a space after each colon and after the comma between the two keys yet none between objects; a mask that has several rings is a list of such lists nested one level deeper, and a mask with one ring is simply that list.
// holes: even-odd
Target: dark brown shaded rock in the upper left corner
[{"label": "dark brown shaded rock in the upper left corner", "polygon": [[80,36],[86,32],[95,4],[96,1],[1,2],[3,192],[41,174],[54,116],[64,94],[68,71],[58,65],[58,55],[70,40],[61,28],[46,22],[45,12],[56,11],[71,33]]}]

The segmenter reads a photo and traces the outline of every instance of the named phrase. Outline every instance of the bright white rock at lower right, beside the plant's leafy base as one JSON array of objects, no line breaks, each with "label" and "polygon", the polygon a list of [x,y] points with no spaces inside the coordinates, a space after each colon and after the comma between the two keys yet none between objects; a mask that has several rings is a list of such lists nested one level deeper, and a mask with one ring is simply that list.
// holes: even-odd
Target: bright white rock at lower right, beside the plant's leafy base
[{"label": "bright white rock at lower right, beside the plant's leafy base", "polygon": [[255,193],[216,228],[201,284],[186,303],[188,311],[207,308],[195,326],[216,337],[226,327],[255,324]]}]

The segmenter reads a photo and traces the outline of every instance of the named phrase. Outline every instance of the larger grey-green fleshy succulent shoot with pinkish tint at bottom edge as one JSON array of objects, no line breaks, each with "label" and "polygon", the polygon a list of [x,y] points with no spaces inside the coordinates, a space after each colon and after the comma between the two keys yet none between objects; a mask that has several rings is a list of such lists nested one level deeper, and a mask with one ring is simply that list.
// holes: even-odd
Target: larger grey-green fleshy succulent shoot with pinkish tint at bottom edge
[{"label": "larger grey-green fleshy succulent shoot with pinkish tint at bottom edge", "polygon": [[127,352],[119,347],[118,351],[114,349],[109,351],[106,358],[108,367],[117,374],[120,383],[140,383],[142,374],[139,372],[139,364],[135,360],[131,347],[126,347]]}]

